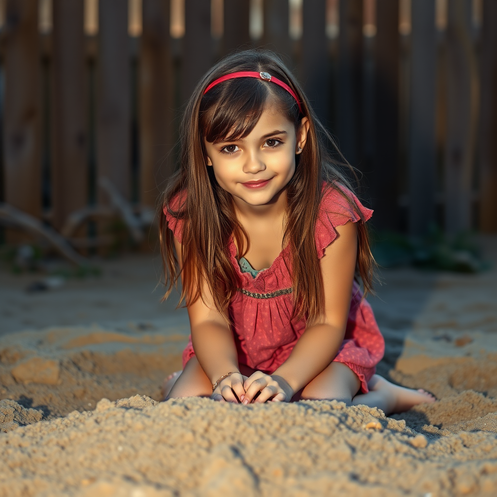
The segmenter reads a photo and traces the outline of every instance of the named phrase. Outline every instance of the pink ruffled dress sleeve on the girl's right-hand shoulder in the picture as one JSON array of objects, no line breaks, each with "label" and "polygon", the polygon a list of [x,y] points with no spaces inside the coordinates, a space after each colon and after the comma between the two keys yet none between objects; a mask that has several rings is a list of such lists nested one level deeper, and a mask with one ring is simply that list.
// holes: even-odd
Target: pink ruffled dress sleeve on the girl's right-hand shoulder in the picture
[{"label": "pink ruffled dress sleeve on the girl's right-hand shoulder in the picture", "polygon": [[349,221],[366,222],[372,215],[373,211],[364,207],[348,188],[341,185],[329,186],[323,195],[316,221],[318,257],[325,255],[325,248],[336,238],[336,226],[343,226]]}]

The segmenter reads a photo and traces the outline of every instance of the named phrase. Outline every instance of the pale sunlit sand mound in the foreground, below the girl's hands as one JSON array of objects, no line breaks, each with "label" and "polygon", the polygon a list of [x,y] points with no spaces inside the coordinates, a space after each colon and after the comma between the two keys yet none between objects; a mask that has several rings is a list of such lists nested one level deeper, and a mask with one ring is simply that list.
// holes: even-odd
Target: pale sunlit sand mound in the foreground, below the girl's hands
[{"label": "pale sunlit sand mound in the foreground, below the girl's hands", "polygon": [[490,496],[496,442],[488,432],[428,441],[334,401],[102,399],[0,437],[0,496]]}]

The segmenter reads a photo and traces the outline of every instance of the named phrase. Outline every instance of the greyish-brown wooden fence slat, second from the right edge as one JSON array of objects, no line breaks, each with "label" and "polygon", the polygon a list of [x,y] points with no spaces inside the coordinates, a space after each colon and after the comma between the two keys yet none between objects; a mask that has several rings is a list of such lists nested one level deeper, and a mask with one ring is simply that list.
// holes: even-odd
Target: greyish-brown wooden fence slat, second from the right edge
[{"label": "greyish-brown wooden fence slat, second from the right edge", "polygon": [[476,62],[471,40],[471,0],[452,0],[447,25],[447,139],[445,148],[445,230],[471,228]]}]

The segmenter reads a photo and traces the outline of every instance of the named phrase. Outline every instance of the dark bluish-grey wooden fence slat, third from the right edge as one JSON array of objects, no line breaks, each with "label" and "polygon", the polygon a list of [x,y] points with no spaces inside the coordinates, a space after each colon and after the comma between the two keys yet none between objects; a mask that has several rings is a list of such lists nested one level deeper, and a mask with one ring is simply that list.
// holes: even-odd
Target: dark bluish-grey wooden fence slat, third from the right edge
[{"label": "dark bluish-grey wooden fence slat, third from the right edge", "polygon": [[435,221],[435,1],[412,3],[409,231],[422,235]]}]

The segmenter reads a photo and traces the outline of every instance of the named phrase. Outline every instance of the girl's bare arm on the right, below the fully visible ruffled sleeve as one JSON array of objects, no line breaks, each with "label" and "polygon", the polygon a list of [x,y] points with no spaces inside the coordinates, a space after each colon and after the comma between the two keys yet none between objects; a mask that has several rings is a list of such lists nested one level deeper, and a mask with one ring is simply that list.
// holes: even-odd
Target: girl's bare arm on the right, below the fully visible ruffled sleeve
[{"label": "girl's bare arm on the right, below the fully visible ruffled sleeve", "polygon": [[[282,383],[287,383],[283,385],[287,401],[331,363],[343,341],[357,256],[357,226],[348,222],[344,226],[338,226],[336,232],[338,236],[320,261],[325,314],[319,323],[304,331],[288,359],[271,375],[281,378]],[[249,402],[258,390],[255,385],[250,387],[250,378],[245,383],[245,398]],[[261,401],[265,397],[261,393]],[[257,401],[260,402],[258,399]]]}]

